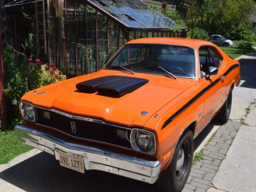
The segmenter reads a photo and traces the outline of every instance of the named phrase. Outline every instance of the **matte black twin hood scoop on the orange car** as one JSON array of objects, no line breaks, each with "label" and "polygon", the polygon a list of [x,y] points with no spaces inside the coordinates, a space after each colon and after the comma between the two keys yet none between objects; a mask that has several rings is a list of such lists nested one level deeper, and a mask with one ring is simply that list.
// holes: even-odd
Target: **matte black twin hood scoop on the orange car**
[{"label": "matte black twin hood scoop on the orange car", "polygon": [[104,76],[76,84],[80,92],[95,93],[108,97],[121,97],[148,83],[147,79],[126,76]]}]

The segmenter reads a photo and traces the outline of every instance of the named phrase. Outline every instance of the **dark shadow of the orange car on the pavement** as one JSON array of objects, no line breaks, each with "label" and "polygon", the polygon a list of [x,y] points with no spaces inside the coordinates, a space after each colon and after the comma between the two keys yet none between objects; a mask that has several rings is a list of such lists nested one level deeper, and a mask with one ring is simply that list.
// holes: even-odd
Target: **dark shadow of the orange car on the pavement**
[{"label": "dark shadow of the orange car on the pavement", "polygon": [[[195,148],[212,130],[211,122],[195,139]],[[159,191],[155,185],[100,171],[85,174],[60,166],[54,156],[41,152],[0,173],[0,178],[28,192],[131,192]]]}]

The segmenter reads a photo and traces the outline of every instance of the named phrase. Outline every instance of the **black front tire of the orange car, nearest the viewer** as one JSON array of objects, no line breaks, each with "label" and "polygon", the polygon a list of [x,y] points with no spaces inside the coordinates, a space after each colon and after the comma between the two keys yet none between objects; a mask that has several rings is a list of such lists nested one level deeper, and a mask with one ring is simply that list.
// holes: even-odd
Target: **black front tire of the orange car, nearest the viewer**
[{"label": "black front tire of the orange car, nearest the viewer", "polygon": [[[177,160],[184,152],[184,163],[177,171]],[[157,181],[158,188],[164,192],[180,192],[184,188],[190,174],[194,154],[194,138],[190,130],[186,130],[178,142],[172,161],[169,166],[160,173]],[[182,158],[180,158],[182,159]]]}]

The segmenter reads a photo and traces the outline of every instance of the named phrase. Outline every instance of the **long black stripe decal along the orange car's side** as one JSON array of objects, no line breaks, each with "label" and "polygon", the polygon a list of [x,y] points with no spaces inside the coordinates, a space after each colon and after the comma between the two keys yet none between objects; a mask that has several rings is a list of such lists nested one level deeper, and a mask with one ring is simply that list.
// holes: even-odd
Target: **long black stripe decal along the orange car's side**
[{"label": "long black stripe decal along the orange car's side", "polygon": [[[227,74],[229,74],[234,68],[239,67],[240,64],[234,64],[232,65],[224,74],[223,76],[226,76]],[[166,120],[166,122],[164,122],[162,129],[164,129],[168,124],[170,124],[170,122],[172,122],[175,118],[177,118],[184,110],[186,110],[189,106],[191,106],[194,102],[196,102],[196,100],[198,100],[204,93],[206,93],[208,90],[210,90],[212,87],[214,87],[218,82],[220,82],[221,80],[221,76],[216,79],[214,82],[212,82],[210,85],[208,85],[206,88],[204,88],[202,91],[200,91],[198,94],[196,94],[196,96],[194,96],[189,102],[187,102],[184,106],[182,106],[182,108],[180,108],[176,113],[174,113],[172,116],[170,116],[170,118],[168,118]]]}]

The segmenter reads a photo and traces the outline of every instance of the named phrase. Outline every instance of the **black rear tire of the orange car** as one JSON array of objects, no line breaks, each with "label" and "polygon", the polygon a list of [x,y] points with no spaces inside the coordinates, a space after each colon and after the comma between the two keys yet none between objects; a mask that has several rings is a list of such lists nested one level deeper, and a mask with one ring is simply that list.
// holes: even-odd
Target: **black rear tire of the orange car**
[{"label": "black rear tire of the orange car", "polygon": [[216,120],[218,120],[221,123],[228,122],[229,116],[230,116],[230,111],[231,111],[231,106],[232,106],[232,89],[230,89],[230,91],[228,93],[228,97],[227,97],[224,105],[222,106],[222,108],[220,109],[218,114],[216,115]]}]

